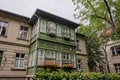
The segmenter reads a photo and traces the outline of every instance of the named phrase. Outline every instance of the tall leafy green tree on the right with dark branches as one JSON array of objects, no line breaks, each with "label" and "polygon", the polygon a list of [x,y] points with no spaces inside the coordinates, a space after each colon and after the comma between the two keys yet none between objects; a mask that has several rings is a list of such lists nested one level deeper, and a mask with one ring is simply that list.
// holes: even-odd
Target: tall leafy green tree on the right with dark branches
[{"label": "tall leafy green tree on the right with dark branches", "polygon": [[[78,28],[78,32],[88,37],[87,49],[88,59],[91,55],[97,55],[100,58],[99,49],[102,48],[105,53],[105,60],[109,72],[109,63],[107,62],[106,44],[109,39],[119,40],[120,35],[120,0],[72,0],[76,5],[74,14],[75,18],[80,19],[81,24],[87,25]],[[86,24],[87,22],[87,24]],[[89,25],[89,26],[88,26]],[[88,31],[87,31],[88,30]],[[96,33],[100,36],[96,37]],[[102,36],[101,36],[102,35]],[[90,44],[92,43],[92,44]],[[98,46],[98,44],[100,46]],[[97,48],[96,48],[97,47]],[[95,57],[94,57],[95,58]],[[89,59],[91,60],[91,58]],[[93,67],[99,60],[93,59]],[[94,64],[93,64],[94,63]],[[90,66],[89,66],[90,67]]]}]

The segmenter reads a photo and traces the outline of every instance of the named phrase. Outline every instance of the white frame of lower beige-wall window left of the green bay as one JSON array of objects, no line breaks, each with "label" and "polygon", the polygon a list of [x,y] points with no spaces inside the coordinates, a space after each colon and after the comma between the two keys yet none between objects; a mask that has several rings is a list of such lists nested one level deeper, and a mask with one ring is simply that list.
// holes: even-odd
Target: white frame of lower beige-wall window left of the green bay
[{"label": "white frame of lower beige-wall window left of the green bay", "polygon": [[[16,55],[19,54],[19,57],[15,57],[15,64],[14,64],[14,68],[17,69],[24,69],[24,57],[25,54],[22,53],[16,53]],[[24,55],[24,57],[22,58],[21,56]],[[18,62],[17,62],[18,61]],[[22,66],[21,66],[22,64]]]}]

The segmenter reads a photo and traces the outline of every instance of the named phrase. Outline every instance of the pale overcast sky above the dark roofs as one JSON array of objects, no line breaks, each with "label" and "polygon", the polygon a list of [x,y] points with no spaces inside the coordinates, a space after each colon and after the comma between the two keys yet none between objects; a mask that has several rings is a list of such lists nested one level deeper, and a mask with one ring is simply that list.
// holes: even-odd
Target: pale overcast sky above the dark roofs
[{"label": "pale overcast sky above the dark roofs", "polygon": [[74,22],[72,0],[0,0],[0,9],[31,17],[37,8]]}]

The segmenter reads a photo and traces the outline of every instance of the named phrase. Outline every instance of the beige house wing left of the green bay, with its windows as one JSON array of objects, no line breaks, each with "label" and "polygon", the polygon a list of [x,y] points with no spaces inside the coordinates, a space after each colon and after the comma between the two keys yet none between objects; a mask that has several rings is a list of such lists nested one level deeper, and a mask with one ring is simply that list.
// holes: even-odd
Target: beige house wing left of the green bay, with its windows
[{"label": "beige house wing left of the green bay, with its windows", "polygon": [[25,80],[29,18],[0,10],[0,80]]}]

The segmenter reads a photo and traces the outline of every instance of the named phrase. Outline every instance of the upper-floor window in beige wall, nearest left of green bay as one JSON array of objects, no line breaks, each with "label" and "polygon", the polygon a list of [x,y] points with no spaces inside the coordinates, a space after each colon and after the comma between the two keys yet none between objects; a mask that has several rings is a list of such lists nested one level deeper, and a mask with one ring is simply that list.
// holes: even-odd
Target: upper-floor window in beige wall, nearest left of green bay
[{"label": "upper-floor window in beige wall, nearest left of green bay", "polygon": [[19,38],[20,39],[28,39],[28,27],[21,26],[19,31]]}]

